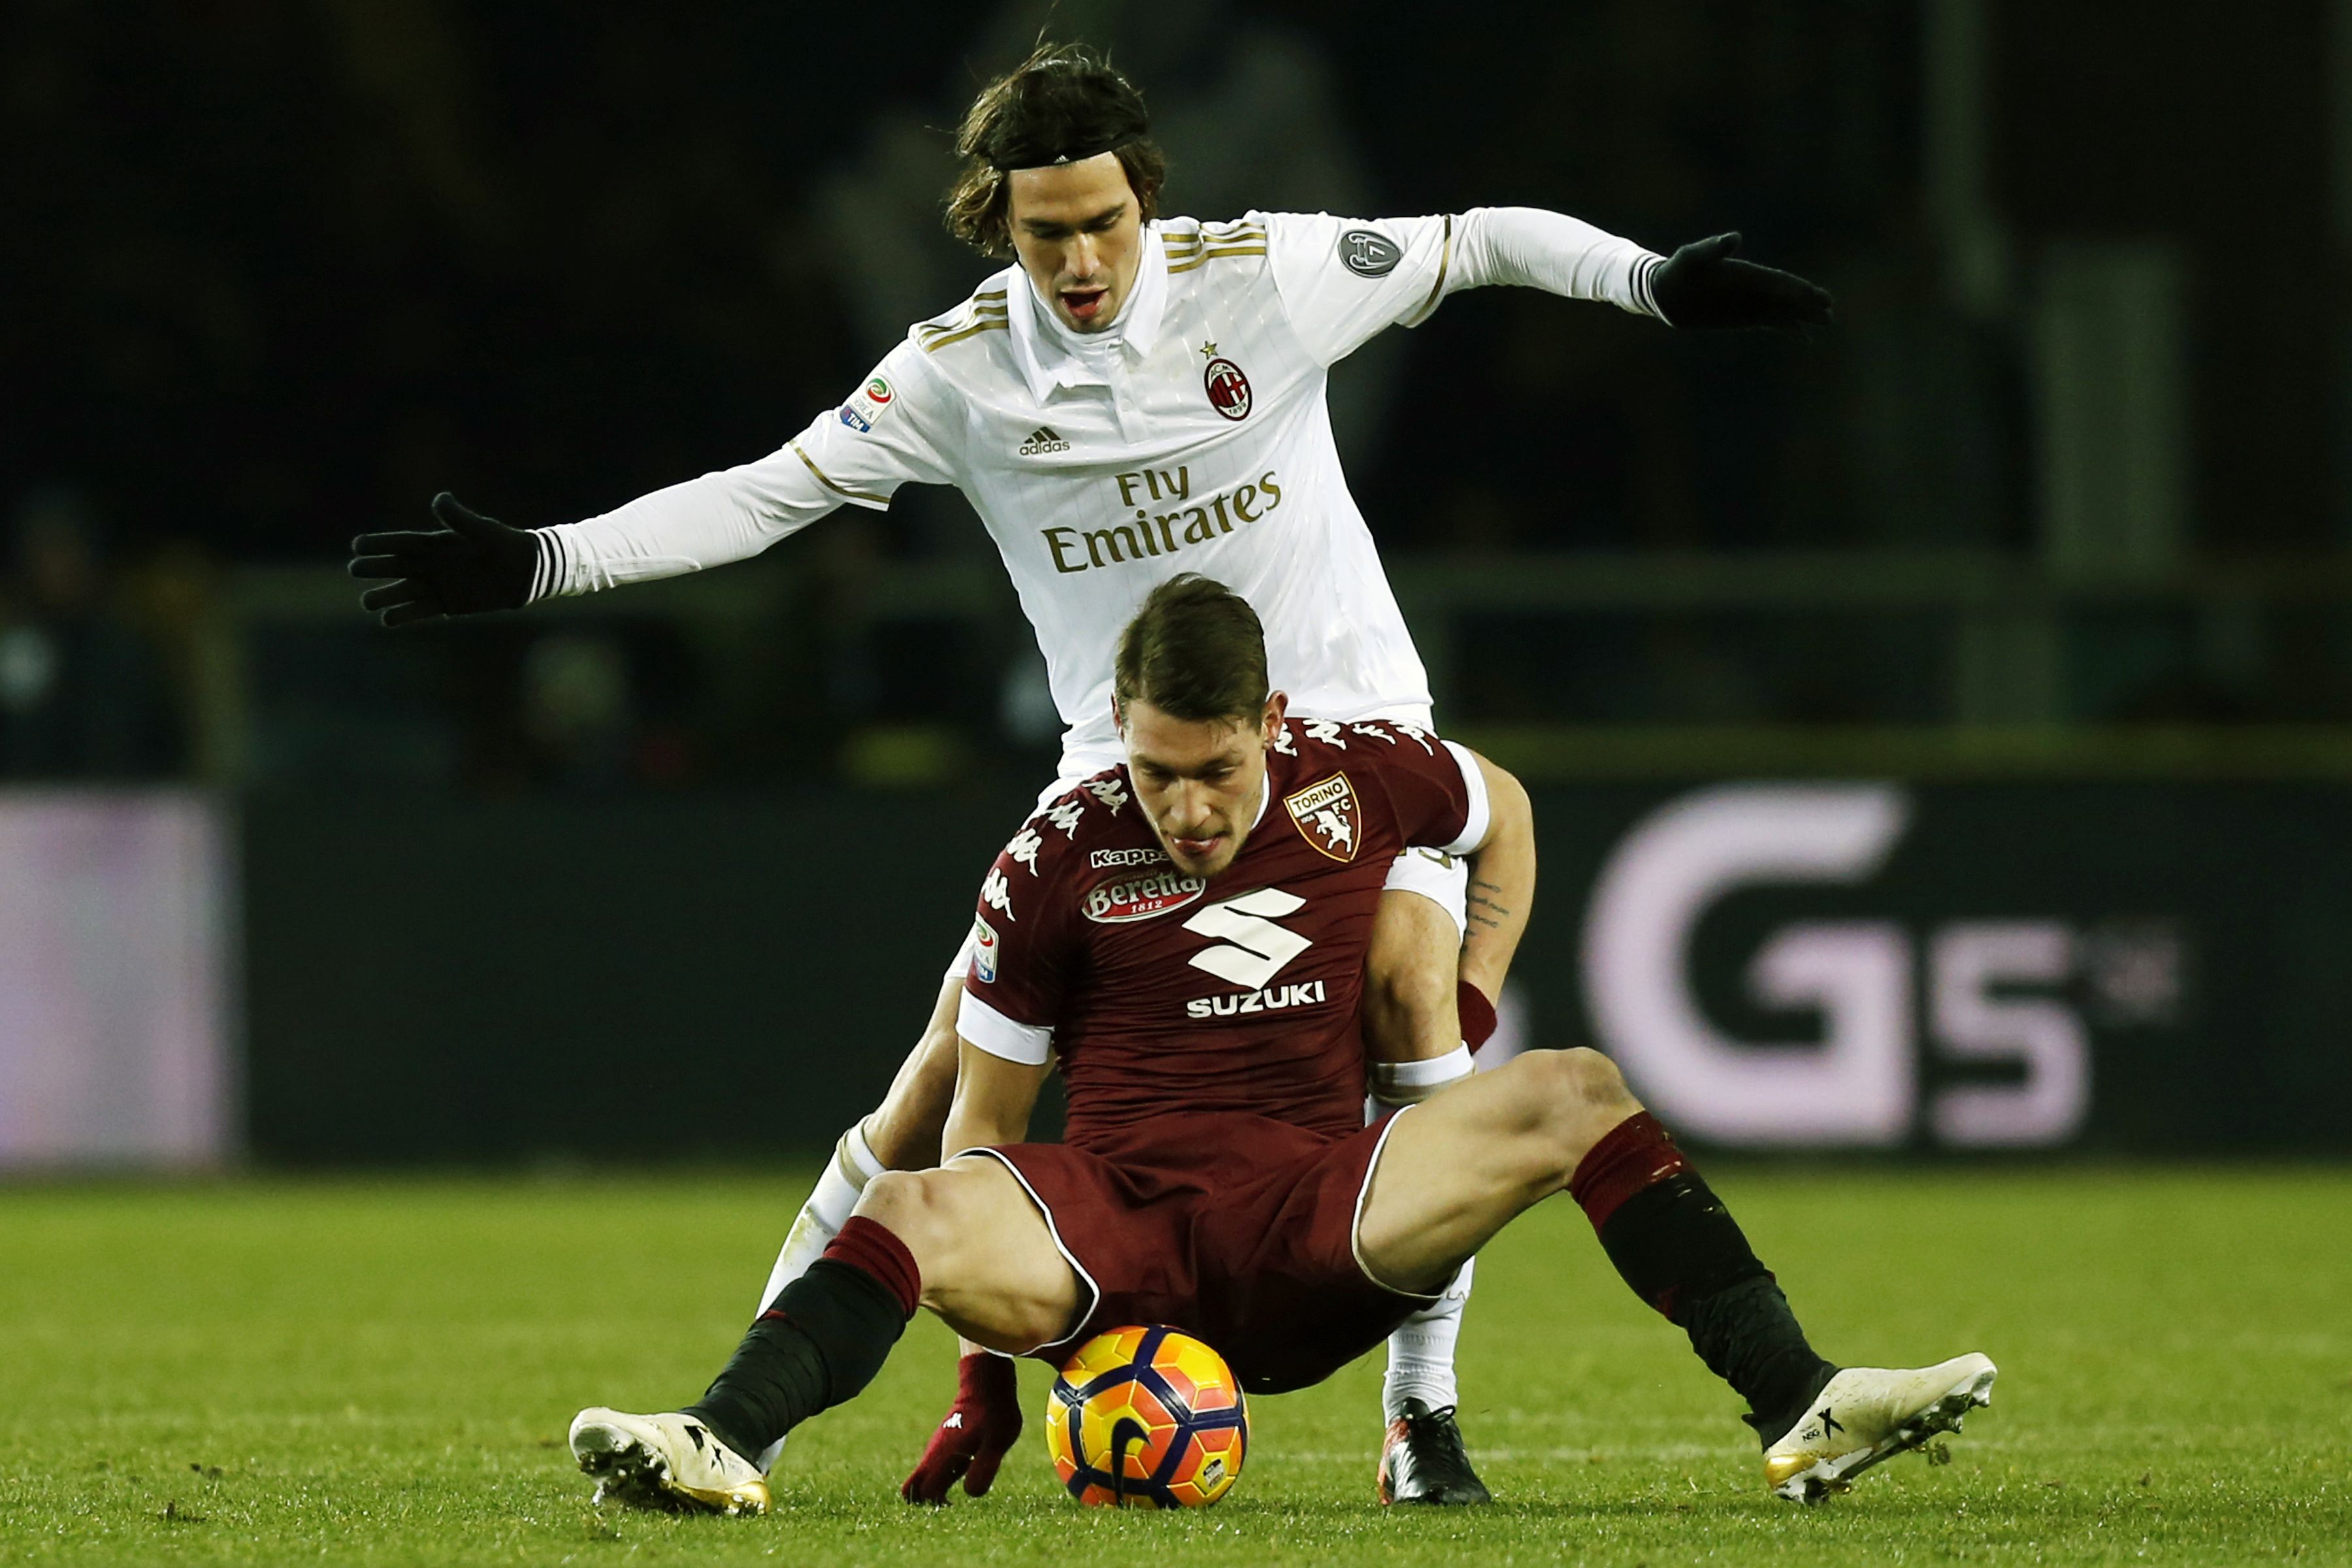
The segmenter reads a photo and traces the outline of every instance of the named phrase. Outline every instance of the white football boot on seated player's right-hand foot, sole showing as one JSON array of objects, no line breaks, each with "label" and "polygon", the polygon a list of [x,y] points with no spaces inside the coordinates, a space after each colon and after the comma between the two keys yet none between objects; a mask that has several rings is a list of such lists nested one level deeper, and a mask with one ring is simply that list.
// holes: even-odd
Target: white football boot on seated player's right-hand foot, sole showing
[{"label": "white football boot on seated player's right-hand foot, sole showing", "polygon": [[1999,1368],[1976,1354],[1907,1371],[1849,1366],[1764,1450],[1764,1486],[1790,1502],[1820,1502],[1842,1493],[1879,1460],[1917,1448],[1938,1432],[1959,1432],[1969,1410],[1992,1403],[1997,1375]]}]

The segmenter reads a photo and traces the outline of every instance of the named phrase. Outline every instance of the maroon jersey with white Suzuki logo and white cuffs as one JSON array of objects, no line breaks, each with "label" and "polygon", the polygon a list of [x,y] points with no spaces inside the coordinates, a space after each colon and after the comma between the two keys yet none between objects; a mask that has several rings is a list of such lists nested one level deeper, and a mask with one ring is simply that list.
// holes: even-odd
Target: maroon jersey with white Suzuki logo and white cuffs
[{"label": "maroon jersey with white Suzuki logo and white cuffs", "polygon": [[1477,844],[1486,788],[1470,752],[1385,719],[1289,719],[1265,762],[1214,879],[1169,863],[1117,766],[1030,818],[981,886],[960,1032],[1056,1056],[1077,1147],[1164,1112],[1364,1124],[1357,999],[1388,865]]}]

